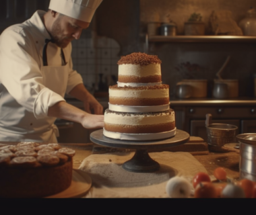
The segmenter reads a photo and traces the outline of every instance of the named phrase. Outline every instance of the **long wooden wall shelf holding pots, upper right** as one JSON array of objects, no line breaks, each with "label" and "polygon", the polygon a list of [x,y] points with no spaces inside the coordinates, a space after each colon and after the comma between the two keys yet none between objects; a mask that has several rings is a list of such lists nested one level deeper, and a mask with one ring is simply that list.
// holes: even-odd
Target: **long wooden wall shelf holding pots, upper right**
[{"label": "long wooden wall shelf holding pots, upper right", "polygon": [[256,42],[256,36],[148,36],[148,42]]}]

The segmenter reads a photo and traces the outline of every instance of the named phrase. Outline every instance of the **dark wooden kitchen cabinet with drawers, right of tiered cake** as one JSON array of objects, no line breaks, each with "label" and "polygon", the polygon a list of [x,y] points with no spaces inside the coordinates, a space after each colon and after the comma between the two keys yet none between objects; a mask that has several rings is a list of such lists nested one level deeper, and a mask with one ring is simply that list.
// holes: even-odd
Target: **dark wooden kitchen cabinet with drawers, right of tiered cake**
[{"label": "dark wooden kitchen cabinet with drawers, right of tiered cake", "polygon": [[212,114],[212,123],[232,124],[236,134],[256,133],[256,100],[189,99],[171,100],[176,126],[191,136],[207,141],[206,114]]}]

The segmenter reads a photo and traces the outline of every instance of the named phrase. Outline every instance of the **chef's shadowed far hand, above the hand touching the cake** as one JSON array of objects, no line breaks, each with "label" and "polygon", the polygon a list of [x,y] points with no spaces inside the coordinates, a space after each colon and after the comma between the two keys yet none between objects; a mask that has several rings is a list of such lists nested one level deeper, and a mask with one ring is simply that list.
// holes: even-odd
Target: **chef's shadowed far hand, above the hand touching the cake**
[{"label": "chef's shadowed far hand, above the hand touching the cake", "polygon": [[92,114],[92,110],[96,115],[103,114],[103,106],[95,99],[91,93],[88,93],[86,96],[84,101],[84,110],[89,114]]}]

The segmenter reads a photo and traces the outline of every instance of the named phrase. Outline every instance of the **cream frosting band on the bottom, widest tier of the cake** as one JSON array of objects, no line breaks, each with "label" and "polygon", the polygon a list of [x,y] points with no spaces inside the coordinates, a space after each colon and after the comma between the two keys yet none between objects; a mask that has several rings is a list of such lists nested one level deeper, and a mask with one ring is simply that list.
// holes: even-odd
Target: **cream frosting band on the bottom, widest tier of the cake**
[{"label": "cream frosting band on the bottom, widest tier of the cake", "polygon": [[172,114],[157,114],[157,115],[135,115],[129,114],[130,116],[115,114],[115,113],[104,113],[104,122],[108,124],[122,124],[129,126],[142,126],[142,125],[154,125],[168,122],[174,122],[174,112]]}]

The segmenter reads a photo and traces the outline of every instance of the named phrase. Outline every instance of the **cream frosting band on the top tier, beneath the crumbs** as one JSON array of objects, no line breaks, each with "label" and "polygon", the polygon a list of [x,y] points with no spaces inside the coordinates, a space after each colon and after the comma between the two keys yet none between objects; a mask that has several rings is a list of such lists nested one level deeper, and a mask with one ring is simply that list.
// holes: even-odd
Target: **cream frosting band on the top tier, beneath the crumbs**
[{"label": "cream frosting band on the top tier, beneath the crumbs", "polygon": [[150,75],[161,75],[161,65],[159,63],[148,65],[121,64],[119,65],[119,75],[134,75],[147,77]]}]

